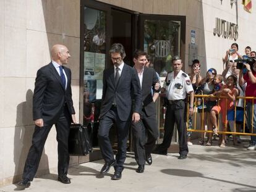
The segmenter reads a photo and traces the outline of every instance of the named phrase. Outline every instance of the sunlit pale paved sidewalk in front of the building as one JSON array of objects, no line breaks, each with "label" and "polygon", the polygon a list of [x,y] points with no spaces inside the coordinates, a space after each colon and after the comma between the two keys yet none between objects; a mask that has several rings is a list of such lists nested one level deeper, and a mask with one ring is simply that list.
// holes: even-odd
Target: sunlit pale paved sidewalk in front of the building
[{"label": "sunlit pale paved sidewalk in front of the building", "polygon": [[[35,178],[26,191],[256,191],[256,151],[246,148],[221,149],[218,146],[189,146],[189,157],[178,160],[178,153],[153,154],[153,164],[137,173],[132,153],[127,155],[122,179],[113,181],[111,168],[104,177],[98,175],[103,161],[89,162],[69,169],[70,185],[57,181],[56,173]],[[16,185],[0,191],[20,190]]]}]

